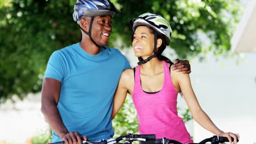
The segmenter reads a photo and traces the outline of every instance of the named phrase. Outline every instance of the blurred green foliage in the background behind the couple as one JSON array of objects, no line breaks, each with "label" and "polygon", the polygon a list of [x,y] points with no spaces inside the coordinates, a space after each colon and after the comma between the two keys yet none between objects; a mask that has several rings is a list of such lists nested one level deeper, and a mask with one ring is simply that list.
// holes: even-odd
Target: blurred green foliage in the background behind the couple
[{"label": "blurred green foliage in the background behind the couple", "polygon": [[[129,49],[132,29],[128,21],[146,12],[157,13],[170,22],[171,49],[180,59],[202,57],[210,51],[224,55],[231,48],[230,39],[242,14],[239,0],[112,2],[121,13],[113,18],[109,47]],[[72,17],[74,3],[75,0],[0,0],[0,104],[8,99],[15,102],[13,95],[23,99],[27,93],[40,92],[51,53],[80,41],[80,29]],[[207,37],[207,45],[200,35]],[[135,111],[129,109],[131,103],[127,99],[115,118],[116,131],[120,125],[123,131],[137,130]],[[186,112],[184,116],[189,119]],[[121,122],[127,122],[127,129]]]}]

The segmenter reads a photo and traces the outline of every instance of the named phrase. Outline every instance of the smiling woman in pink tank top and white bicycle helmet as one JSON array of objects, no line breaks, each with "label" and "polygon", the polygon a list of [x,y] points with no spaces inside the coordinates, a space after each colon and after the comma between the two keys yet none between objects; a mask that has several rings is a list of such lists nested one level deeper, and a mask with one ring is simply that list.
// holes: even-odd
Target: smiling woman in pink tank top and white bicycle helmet
[{"label": "smiling woman in pink tank top and white bicycle helmet", "polygon": [[[132,95],[137,110],[139,133],[156,134],[182,143],[193,142],[182,118],[177,115],[177,95],[182,91],[191,115],[203,128],[218,136],[239,138],[225,133],[201,109],[188,74],[170,69],[171,61],[161,56],[170,44],[170,24],[160,15],[146,13],[130,21],[133,27],[132,47],[138,66],[121,74],[114,95],[112,118],[123,105],[127,92]],[[168,63],[167,63],[168,62]]]}]

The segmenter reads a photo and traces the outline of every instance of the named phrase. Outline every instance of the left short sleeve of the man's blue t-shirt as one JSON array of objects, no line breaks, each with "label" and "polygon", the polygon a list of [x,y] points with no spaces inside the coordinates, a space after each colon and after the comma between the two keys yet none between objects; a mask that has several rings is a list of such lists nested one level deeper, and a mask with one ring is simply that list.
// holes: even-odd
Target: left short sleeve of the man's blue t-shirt
[{"label": "left short sleeve of the man's blue t-shirt", "polygon": [[61,51],[55,51],[49,58],[44,78],[52,78],[62,82],[63,77],[65,76],[65,61],[62,56]]}]

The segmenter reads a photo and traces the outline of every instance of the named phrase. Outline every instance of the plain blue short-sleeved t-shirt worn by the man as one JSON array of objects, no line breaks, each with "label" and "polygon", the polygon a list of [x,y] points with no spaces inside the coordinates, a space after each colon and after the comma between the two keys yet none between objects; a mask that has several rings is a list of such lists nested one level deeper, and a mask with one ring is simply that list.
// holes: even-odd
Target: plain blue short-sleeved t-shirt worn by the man
[{"label": "plain blue short-sleeved t-shirt worn by the man", "polygon": [[[121,73],[131,68],[118,49],[102,47],[97,55],[86,53],[79,43],[55,51],[45,77],[61,82],[57,108],[69,131],[89,140],[110,139],[113,95]],[[61,141],[53,132],[52,142]]]}]

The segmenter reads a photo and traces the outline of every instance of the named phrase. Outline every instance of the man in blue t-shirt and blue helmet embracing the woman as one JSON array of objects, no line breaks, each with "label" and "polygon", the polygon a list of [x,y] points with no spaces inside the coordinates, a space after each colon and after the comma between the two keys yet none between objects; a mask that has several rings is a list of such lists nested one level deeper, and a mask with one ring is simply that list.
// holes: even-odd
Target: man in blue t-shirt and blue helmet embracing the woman
[{"label": "man in blue t-shirt and blue helmet embracing the woman", "polygon": [[[106,47],[115,12],[120,11],[109,0],[78,0],[74,5],[82,40],[51,55],[43,80],[41,110],[53,129],[52,142],[114,135],[113,95],[121,73],[131,68],[119,50]],[[190,73],[188,61],[176,68]]]}]

